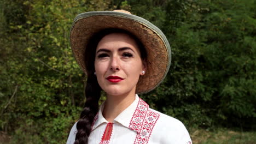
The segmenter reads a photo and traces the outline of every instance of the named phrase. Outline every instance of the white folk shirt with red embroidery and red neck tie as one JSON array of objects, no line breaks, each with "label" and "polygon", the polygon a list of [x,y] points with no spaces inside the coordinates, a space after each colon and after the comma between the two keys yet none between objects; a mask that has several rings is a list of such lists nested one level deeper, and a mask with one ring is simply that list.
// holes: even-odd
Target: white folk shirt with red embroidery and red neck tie
[{"label": "white folk shirt with red embroidery and red neck tie", "polygon": [[[102,115],[104,104],[94,118],[89,144],[191,144],[188,130],[178,119],[150,109],[138,97],[133,103],[109,123]],[[73,144],[77,133],[75,123],[67,144]]]}]

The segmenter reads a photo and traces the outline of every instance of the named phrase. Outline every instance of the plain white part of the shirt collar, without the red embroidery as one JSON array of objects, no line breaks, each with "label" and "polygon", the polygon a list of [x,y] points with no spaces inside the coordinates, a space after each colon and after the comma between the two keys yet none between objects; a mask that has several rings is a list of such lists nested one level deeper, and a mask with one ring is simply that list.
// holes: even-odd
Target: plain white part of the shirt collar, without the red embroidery
[{"label": "plain white part of the shirt collar, without the red embroidery", "polygon": [[[139,101],[141,99],[138,97],[138,95],[135,95],[135,100],[132,102],[130,106],[128,106],[123,112],[121,112],[116,118],[114,118],[113,123],[120,123],[124,125],[124,127],[127,127],[131,130],[135,130],[137,133],[140,131],[133,129],[130,127],[131,120],[133,118],[133,115],[135,114],[135,111],[137,107],[139,106]],[[92,123],[92,129],[96,129],[99,125],[103,123],[108,123],[108,121],[103,117],[102,112],[104,108],[104,103],[101,105],[100,110],[98,111],[97,115],[95,116],[94,123]]]}]

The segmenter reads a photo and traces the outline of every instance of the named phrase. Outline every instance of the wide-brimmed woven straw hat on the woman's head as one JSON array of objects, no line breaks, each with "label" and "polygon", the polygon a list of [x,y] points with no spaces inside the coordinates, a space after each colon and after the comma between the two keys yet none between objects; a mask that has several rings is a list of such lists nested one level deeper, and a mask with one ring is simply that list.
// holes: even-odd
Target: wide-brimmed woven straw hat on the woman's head
[{"label": "wide-brimmed woven straw hat on the woman's head", "polygon": [[85,49],[90,37],[106,28],[119,28],[131,32],[147,51],[147,71],[139,77],[136,93],[147,93],[164,80],[171,64],[171,47],[161,30],[149,21],[129,11],[91,11],[75,17],[70,32],[74,57],[86,74]]}]

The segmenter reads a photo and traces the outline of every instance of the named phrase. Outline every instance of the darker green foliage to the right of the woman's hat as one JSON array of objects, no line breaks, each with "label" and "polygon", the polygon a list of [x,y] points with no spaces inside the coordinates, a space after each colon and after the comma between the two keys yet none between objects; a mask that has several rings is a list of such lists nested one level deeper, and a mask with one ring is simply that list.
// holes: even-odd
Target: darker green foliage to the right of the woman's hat
[{"label": "darker green foliage to the right of the woman's hat", "polygon": [[[161,10],[155,12],[158,7]],[[172,66],[160,87],[143,97],[156,109],[189,125],[228,124],[252,129],[255,3],[165,1],[152,8],[164,19],[151,19],[151,13],[141,15],[156,25],[162,23],[158,26],[172,46]],[[238,119],[243,120],[237,123]]]}]

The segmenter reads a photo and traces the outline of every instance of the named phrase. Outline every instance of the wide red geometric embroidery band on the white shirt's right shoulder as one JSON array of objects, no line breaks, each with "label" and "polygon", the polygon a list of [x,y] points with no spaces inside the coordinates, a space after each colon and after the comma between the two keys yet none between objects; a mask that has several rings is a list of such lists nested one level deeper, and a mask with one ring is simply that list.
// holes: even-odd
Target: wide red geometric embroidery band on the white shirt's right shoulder
[{"label": "wide red geometric embroidery band on the white shirt's right shoulder", "polygon": [[133,114],[129,128],[137,131],[135,144],[147,144],[154,128],[158,121],[159,113],[149,110],[148,104],[139,99],[138,106]]}]

